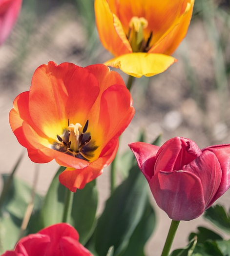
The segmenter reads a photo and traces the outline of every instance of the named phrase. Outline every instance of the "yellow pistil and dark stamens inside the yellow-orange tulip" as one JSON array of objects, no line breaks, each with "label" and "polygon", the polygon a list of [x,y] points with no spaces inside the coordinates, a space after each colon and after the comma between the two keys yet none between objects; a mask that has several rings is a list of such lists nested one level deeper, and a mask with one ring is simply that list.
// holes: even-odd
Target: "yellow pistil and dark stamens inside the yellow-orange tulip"
[{"label": "yellow pistil and dark stamens inside the yellow-orange tulip", "polygon": [[129,24],[127,39],[133,52],[146,52],[152,38],[152,32],[147,41],[144,40],[144,29],[148,26],[145,18],[132,17]]}]

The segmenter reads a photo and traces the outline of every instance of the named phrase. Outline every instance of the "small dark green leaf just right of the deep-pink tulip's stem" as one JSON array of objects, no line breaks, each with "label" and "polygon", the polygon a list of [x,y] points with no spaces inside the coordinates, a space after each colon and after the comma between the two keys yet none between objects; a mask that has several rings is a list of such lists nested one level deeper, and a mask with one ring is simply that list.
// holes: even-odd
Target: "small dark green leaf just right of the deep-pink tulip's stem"
[{"label": "small dark green leaf just right of the deep-pink tulip's stem", "polygon": [[189,235],[189,240],[191,240],[194,236],[197,236],[197,243],[198,244],[203,244],[205,243],[207,240],[223,240],[223,238],[217,234],[216,232],[209,230],[207,228],[204,227],[198,227],[198,232],[197,233],[191,233]]}]

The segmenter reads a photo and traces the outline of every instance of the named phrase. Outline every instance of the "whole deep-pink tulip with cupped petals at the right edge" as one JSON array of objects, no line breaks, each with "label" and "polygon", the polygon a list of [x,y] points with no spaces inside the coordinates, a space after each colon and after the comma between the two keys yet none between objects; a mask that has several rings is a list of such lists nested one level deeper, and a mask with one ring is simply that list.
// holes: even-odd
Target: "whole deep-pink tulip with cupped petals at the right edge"
[{"label": "whole deep-pink tulip with cupped petals at the right edge", "polygon": [[200,150],[182,137],[129,144],[157,205],[172,220],[199,217],[230,187],[230,144]]}]

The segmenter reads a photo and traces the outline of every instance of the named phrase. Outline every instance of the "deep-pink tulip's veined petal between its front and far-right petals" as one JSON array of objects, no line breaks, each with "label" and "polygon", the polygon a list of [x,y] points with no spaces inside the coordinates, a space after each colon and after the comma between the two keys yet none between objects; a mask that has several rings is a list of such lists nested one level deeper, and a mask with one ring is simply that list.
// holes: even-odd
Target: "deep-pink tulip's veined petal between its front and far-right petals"
[{"label": "deep-pink tulip's veined petal between its front and far-right petals", "polygon": [[199,157],[182,169],[200,178],[206,208],[208,208],[214,202],[213,197],[220,186],[222,178],[222,171],[217,157],[210,151],[204,151]]}]

